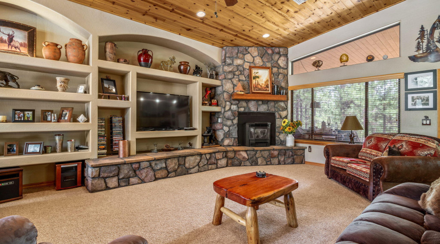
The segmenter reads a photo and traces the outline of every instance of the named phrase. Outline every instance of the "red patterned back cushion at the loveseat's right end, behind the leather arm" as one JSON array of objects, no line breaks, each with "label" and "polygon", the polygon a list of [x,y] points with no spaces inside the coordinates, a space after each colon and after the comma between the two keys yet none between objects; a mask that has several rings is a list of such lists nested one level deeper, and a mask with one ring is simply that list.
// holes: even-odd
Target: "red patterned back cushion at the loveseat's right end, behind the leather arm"
[{"label": "red patterned back cushion at the loveseat's right end, behind the leather arm", "polygon": [[[400,151],[400,156],[440,157],[440,143],[427,137],[399,134],[388,143]],[[382,156],[388,156],[388,147]]]}]

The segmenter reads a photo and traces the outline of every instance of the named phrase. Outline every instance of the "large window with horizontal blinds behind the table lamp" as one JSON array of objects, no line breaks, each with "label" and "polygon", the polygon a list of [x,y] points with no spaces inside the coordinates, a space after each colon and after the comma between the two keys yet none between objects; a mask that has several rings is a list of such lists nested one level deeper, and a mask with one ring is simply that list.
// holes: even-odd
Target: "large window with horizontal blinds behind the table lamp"
[{"label": "large window with horizontal blinds behind the table lamp", "polygon": [[349,142],[351,131],[341,126],[353,115],[364,128],[354,131],[355,142],[373,133],[400,132],[399,79],[293,90],[289,103],[290,119],[303,122],[296,139]]}]

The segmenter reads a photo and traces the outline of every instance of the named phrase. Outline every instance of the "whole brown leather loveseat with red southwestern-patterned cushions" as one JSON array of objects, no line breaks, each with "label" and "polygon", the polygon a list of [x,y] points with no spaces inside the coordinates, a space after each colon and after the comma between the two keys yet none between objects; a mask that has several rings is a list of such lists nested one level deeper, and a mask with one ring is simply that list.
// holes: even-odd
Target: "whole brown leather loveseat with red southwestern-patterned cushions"
[{"label": "whole brown leather loveseat with red southwestern-patterned cushions", "polygon": [[[400,183],[431,184],[440,177],[440,139],[417,134],[373,134],[363,144],[324,147],[325,174],[373,201]],[[388,155],[388,146],[401,156]]]}]

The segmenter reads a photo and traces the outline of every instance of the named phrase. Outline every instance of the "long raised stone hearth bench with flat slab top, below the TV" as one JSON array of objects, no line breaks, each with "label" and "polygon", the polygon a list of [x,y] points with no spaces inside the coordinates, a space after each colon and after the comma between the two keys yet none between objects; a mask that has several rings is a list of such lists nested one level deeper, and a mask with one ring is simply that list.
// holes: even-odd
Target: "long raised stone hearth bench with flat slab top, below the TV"
[{"label": "long raised stone hearth bench with flat slab top, below the TV", "polygon": [[305,163],[304,146],[219,146],[86,160],[89,192],[223,168]]}]

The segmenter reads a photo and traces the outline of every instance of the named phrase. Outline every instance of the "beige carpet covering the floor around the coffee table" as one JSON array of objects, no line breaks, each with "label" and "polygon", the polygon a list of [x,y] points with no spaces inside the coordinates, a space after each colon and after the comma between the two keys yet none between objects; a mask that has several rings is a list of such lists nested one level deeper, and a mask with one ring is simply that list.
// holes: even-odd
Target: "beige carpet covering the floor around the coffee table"
[{"label": "beige carpet covering the floor around the coffee table", "polygon": [[[150,244],[246,244],[245,227],[223,215],[211,224],[220,178],[264,170],[296,179],[293,192],[298,228],[286,225],[286,212],[264,204],[258,210],[262,244],[334,243],[369,202],[327,179],[313,165],[229,167],[90,194],[85,187],[55,191],[29,189],[19,201],[0,204],[0,218],[22,215],[38,229],[38,242],[106,244],[128,234]],[[246,207],[225,206],[244,216]]]}]

